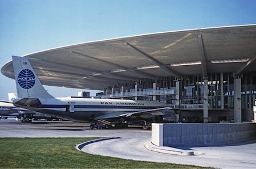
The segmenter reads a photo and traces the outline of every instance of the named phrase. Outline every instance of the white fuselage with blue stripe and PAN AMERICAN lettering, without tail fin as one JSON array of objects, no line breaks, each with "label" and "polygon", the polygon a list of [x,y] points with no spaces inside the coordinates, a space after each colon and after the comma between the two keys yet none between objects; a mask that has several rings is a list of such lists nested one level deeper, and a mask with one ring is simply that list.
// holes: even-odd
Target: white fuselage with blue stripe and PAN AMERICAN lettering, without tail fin
[{"label": "white fuselage with blue stripe and PAN AMERICAN lettering, without tail fin", "polygon": [[28,109],[47,113],[65,119],[89,121],[91,117],[108,113],[139,112],[168,107],[161,102],[121,99],[51,98],[39,99],[40,105],[30,105]]}]

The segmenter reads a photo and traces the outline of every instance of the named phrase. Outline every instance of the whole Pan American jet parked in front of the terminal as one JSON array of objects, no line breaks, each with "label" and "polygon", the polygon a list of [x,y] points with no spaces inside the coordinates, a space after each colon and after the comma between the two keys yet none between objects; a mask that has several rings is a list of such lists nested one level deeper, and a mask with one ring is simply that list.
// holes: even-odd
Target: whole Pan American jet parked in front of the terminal
[{"label": "whole Pan American jet parked in front of the terminal", "polygon": [[174,110],[167,104],[143,100],[54,98],[39,81],[29,58],[13,56],[16,107],[76,121],[127,126],[127,121],[175,122]]}]

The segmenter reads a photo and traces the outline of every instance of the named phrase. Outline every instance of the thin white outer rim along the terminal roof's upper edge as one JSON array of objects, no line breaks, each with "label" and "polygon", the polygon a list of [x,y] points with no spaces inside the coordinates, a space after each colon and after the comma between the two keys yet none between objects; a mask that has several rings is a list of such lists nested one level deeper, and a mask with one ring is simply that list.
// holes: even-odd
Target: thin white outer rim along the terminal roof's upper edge
[{"label": "thin white outer rim along the terminal roof's upper edge", "polygon": [[33,53],[29,53],[29,54],[23,55],[23,57],[30,56],[30,55],[36,54],[36,53],[48,52],[49,50],[55,50],[55,49],[60,49],[60,48],[68,48],[68,47],[72,47],[72,46],[76,46],[76,45],[82,45],[82,44],[99,43],[99,42],[103,42],[103,41],[125,39],[125,38],[130,38],[130,37],[157,35],[157,34],[160,34],[160,33],[174,33],[174,32],[197,31],[197,30],[218,29],[218,28],[249,27],[249,26],[256,26],[256,24],[244,24],[244,25],[209,27],[209,28],[182,29],[182,30],[178,30],[178,31],[165,31],[165,32],[145,33],[145,34],[141,34],[141,35],[114,37],[114,38],[110,38],[110,39],[88,41],[88,42],[84,42],[84,43],[77,43],[77,44],[72,44],[72,45],[64,45],[62,47],[50,48],[50,49],[46,49],[46,50],[39,50],[38,52],[33,52]]}]

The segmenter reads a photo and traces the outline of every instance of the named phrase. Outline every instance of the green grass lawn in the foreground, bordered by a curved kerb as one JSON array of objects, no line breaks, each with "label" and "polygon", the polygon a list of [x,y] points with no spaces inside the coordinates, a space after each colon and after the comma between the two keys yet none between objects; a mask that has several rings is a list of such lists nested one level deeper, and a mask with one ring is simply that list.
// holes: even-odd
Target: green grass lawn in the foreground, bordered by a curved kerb
[{"label": "green grass lawn in the foreground, bordered by a curved kerb", "polygon": [[94,138],[0,138],[0,168],[200,168],[141,162],[77,151]]}]

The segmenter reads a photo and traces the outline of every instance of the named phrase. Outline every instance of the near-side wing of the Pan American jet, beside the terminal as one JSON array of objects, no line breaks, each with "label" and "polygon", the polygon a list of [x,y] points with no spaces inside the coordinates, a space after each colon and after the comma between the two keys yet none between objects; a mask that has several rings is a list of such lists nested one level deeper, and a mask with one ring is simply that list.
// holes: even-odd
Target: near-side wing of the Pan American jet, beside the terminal
[{"label": "near-side wing of the Pan American jet, beside the terminal", "polygon": [[175,121],[176,116],[175,112],[171,107],[150,109],[146,111],[138,111],[138,112],[113,112],[105,115],[97,116],[96,119],[118,119],[121,117],[125,117],[127,119],[154,119],[156,116],[162,116],[168,118],[167,121]]}]

